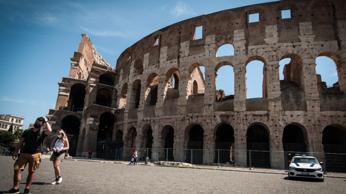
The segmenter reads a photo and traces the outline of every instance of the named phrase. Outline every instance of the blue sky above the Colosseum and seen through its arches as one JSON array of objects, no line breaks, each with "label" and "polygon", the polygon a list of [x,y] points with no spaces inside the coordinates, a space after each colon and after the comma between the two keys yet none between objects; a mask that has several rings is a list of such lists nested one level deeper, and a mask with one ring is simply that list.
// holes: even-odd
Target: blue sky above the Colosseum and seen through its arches
[{"label": "blue sky above the Colosseum and seen through its arches", "polygon": [[[102,57],[115,67],[122,51],[158,29],[203,14],[270,1],[275,0],[0,0],[0,114],[24,116],[23,128],[27,128],[55,108],[57,82],[69,75],[70,57],[78,49],[81,33],[88,34]],[[322,79],[331,79],[327,85],[337,81],[331,63],[321,62],[331,69],[320,70],[325,74]],[[252,66],[247,74],[262,72],[263,64]],[[220,69],[217,89],[234,94],[229,85],[233,84],[233,69]],[[249,76],[247,85],[248,98],[262,97],[262,91],[256,90],[262,88],[262,78]]]}]

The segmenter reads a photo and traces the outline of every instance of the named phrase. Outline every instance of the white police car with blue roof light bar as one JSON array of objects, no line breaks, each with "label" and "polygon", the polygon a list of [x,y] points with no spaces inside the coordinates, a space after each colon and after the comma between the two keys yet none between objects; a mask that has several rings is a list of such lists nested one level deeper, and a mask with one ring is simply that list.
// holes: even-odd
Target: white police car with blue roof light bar
[{"label": "white police car with blue roof light bar", "polygon": [[324,181],[323,162],[318,163],[317,159],[312,154],[295,154],[288,167],[288,177],[318,178]]}]

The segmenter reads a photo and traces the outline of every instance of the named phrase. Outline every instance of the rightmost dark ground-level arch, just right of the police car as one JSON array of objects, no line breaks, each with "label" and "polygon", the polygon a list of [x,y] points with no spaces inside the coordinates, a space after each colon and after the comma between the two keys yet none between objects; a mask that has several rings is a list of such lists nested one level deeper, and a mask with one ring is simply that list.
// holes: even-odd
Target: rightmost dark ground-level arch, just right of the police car
[{"label": "rightmost dark ground-level arch, just right of the police car", "polygon": [[346,154],[346,129],[341,126],[325,127],[322,132],[322,144],[326,171],[346,173],[346,161],[342,157]]}]

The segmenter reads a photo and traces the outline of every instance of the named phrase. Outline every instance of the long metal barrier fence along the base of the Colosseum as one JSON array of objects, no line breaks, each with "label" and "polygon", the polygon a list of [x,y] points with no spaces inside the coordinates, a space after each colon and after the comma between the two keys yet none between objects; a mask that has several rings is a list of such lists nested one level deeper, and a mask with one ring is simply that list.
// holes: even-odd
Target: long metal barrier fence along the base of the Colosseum
[{"label": "long metal barrier fence along the base of the Colosseum", "polygon": [[[101,145],[103,143],[103,145]],[[89,148],[99,146],[92,158],[110,159],[117,161],[131,161],[134,149],[138,150],[138,162],[144,162],[148,157],[150,161],[171,161],[184,162],[194,165],[213,165],[213,166],[235,166],[235,167],[255,167],[255,168],[273,168],[287,169],[292,158],[299,152],[271,152],[271,151],[253,151],[253,150],[203,150],[203,149],[173,149],[173,148],[116,148],[121,146],[118,142],[98,141],[94,144],[90,142],[80,143],[79,151],[75,152],[76,157],[88,157]],[[107,142],[106,142],[107,143]],[[101,148],[102,147],[102,148]],[[325,172],[346,173],[346,154],[311,153],[319,162],[324,162],[322,168]],[[13,152],[0,151],[0,156],[12,156]],[[71,154],[70,154],[71,155]],[[325,158],[321,161],[320,158]],[[206,161],[206,160],[210,161]]]}]

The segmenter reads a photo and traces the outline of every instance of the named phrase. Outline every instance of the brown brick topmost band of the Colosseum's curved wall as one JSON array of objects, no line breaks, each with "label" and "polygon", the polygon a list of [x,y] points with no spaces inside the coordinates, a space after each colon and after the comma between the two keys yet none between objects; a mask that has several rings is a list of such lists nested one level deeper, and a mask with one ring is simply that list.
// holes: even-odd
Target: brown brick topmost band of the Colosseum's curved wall
[{"label": "brown brick topmost band of the Colosseum's curved wall", "polygon": [[[266,44],[266,26],[277,26],[278,43],[300,42],[300,22],[312,22],[314,41],[337,40],[337,21],[346,20],[344,0],[283,0],[239,7],[198,16],[167,26],[139,40],[126,49],[117,60],[118,76],[129,75],[132,61],[149,55],[149,67],[160,63],[160,49],[167,47],[167,61],[179,59],[180,43],[190,41],[190,55],[202,53],[206,37],[215,35],[216,45],[225,39],[233,43],[234,31],[244,30],[246,54],[248,46]],[[281,19],[281,10],[291,10],[291,18]],[[248,15],[259,13],[259,22],[248,22]],[[193,40],[195,27],[203,26],[202,39]],[[284,35],[284,36],[283,36]],[[159,38],[159,44],[154,46]],[[193,41],[192,41],[193,40]],[[340,45],[340,43],[339,43]]]}]

